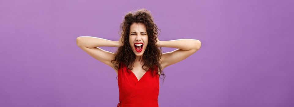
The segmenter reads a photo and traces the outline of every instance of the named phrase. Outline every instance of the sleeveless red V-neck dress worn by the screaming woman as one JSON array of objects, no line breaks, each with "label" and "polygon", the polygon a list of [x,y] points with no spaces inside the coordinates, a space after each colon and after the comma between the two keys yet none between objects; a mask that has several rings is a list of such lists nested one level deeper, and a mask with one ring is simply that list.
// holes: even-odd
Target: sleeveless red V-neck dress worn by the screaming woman
[{"label": "sleeveless red V-neck dress worn by the screaming woman", "polygon": [[[158,68],[156,65],[154,67],[153,71],[149,68],[138,80],[135,74],[121,63],[117,75],[119,89],[117,107],[158,107],[159,77]],[[151,72],[154,72],[154,76]]]}]

